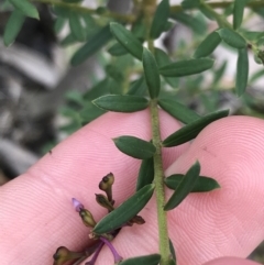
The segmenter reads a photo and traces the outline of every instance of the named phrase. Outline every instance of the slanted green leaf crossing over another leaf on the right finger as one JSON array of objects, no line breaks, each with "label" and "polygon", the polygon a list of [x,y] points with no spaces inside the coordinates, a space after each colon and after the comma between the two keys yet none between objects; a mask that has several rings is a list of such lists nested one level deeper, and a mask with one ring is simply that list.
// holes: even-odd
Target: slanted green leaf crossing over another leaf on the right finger
[{"label": "slanted green leaf crossing over another leaf on the right finger", "polygon": [[167,201],[167,203],[164,207],[165,211],[173,210],[175,207],[177,207],[193,190],[193,188],[196,185],[196,181],[199,178],[200,174],[200,164],[197,161],[186,173],[183,180],[179,183],[178,187]]}]

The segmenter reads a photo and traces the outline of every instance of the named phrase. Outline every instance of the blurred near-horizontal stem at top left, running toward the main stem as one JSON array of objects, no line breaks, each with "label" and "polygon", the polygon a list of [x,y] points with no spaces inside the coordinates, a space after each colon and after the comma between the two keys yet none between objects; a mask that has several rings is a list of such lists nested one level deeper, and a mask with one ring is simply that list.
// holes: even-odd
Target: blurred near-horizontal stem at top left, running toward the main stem
[{"label": "blurred near-horizontal stem at top left, running toward the main stem", "polygon": [[76,3],[66,3],[63,1],[58,1],[58,0],[30,0],[30,1],[53,4],[56,7],[66,8],[66,9],[69,9],[70,11],[76,11],[76,12],[85,13],[85,14],[97,14],[100,16],[114,19],[114,20],[118,20],[121,22],[131,23],[135,20],[135,16],[133,14],[120,14],[120,13],[111,12],[109,10],[106,10],[106,12],[98,14],[96,9],[89,9],[89,8],[81,7]]}]

